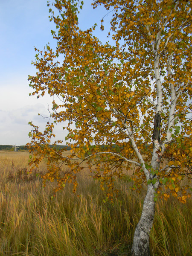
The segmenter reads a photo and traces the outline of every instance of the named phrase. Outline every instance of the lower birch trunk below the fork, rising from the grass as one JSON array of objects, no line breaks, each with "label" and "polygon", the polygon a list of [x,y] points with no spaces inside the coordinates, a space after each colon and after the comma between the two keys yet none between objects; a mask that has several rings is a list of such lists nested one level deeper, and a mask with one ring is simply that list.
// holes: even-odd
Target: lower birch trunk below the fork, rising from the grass
[{"label": "lower birch trunk below the fork, rising from the grass", "polygon": [[154,187],[148,185],[141,218],[134,233],[132,256],[150,256],[149,235],[154,221]]}]

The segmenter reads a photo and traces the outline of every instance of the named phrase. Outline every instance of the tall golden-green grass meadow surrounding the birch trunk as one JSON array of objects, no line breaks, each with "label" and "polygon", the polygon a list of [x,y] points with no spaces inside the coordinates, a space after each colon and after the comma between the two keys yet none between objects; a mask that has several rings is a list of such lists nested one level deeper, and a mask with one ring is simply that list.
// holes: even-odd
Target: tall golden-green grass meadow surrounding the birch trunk
[{"label": "tall golden-green grass meadow surrounding the birch trunk", "polygon": [[[99,182],[83,171],[78,198],[68,184],[51,199],[53,183],[28,175],[28,152],[0,151],[0,256],[127,256],[145,191],[119,180],[118,198],[104,203]],[[45,172],[41,164],[39,172]],[[151,256],[192,255],[192,199],[158,199]]]}]

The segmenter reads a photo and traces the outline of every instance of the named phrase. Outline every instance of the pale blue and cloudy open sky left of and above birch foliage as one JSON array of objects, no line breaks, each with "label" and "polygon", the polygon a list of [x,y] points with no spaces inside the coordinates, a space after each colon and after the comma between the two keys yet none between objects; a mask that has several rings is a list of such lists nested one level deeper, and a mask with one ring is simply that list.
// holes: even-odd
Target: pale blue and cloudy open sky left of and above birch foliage
[{"label": "pale blue and cloudy open sky left of and above birch foliage", "polygon": [[[96,36],[107,41],[108,31],[99,29],[106,13],[102,7],[93,10],[91,1],[84,0],[79,27],[87,29],[97,23]],[[31,64],[35,60],[34,47],[43,50],[48,42],[50,46],[56,43],[50,32],[55,24],[49,22],[48,16],[47,0],[0,0],[0,145],[25,145],[30,141],[28,122],[42,129],[47,122],[42,116],[48,116],[51,100],[29,97],[32,89],[27,79],[36,72]],[[61,140],[66,136],[62,127],[56,128],[56,135]]]}]

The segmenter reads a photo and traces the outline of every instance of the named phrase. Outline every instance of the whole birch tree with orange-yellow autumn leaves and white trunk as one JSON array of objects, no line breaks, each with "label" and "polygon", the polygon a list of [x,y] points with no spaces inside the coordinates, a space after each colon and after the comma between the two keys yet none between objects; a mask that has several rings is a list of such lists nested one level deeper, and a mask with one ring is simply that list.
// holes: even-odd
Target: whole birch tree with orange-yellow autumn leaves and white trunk
[{"label": "whole birch tree with orange-yellow autumn leaves and white trunk", "polygon": [[[148,256],[157,197],[172,195],[185,203],[190,196],[182,180],[192,173],[192,3],[93,0],[93,8],[102,5],[113,13],[108,35],[113,44],[94,36],[96,25],[79,28],[82,1],[55,0],[53,5],[58,15],[49,12],[57,47],[55,52],[48,45],[35,49],[37,73],[29,80],[32,95],[54,96],[54,122],[43,132],[30,122],[31,171],[46,157],[44,184],[56,180],[57,192],[69,182],[76,192],[76,174],[86,162],[90,170],[94,165],[93,176],[112,200],[114,180],[134,165],[135,186],[145,184],[147,190],[132,255]],[[105,18],[101,22],[104,30]],[[49,146],[55,125],[62,122],[68,156]],[[69,169],[61,176],[63,164]]]}]

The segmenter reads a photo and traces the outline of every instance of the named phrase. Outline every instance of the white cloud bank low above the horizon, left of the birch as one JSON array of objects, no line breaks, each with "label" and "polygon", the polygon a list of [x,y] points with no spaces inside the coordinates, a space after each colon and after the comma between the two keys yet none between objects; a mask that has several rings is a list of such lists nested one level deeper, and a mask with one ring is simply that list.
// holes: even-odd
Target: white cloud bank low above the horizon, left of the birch
[{"label": "white cloud bank low above the horizon, left of the birch", "polygon": [[[0,144],[6,145],[25,145],[30,141],[28,134],[31,131],[31,126],[28,125],[32,121],[34,125],[38,125],[41,130],[44,130],[49,119],[44,119],[38,116],[41,113],[43,116],[48,116],[45,105],[27,105],[23,108],[4,111],[0,110]],[[57,140],[66,136],[62,129],[62,124],[57,125]]]}]

